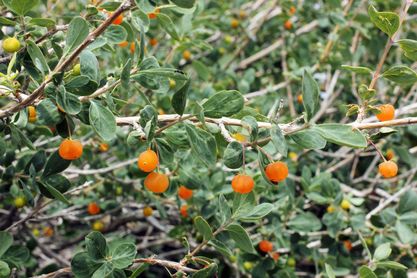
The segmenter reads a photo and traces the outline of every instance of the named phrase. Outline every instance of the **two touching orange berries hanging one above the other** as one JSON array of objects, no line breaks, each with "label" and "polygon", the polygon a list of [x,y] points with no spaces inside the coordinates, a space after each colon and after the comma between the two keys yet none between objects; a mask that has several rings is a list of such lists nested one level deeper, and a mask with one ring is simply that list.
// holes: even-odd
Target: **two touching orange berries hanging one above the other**
[{"label": "two touching orange berries hanging one above the other", "polygon": [[[156,153],[148,149],[139,155],[138,166],[144,172],[151,172],[158,166],[158,156]],[[145,187],[154,193],[164,192],[169,185],[166,174],[151,172],[145,178]]]}]

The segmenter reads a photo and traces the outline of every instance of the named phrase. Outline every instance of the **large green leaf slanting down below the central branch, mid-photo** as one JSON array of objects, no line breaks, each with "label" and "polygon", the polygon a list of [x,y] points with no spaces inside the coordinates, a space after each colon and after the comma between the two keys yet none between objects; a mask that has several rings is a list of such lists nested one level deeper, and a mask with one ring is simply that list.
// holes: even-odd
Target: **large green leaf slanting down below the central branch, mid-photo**
[{"label": "large green leaf slanting down below the central branch, mid-photo", "polygon": [[191,121],[183,121],[191,149],[207,166],[216,164],[216,140],[205,130],[195,126]]}]

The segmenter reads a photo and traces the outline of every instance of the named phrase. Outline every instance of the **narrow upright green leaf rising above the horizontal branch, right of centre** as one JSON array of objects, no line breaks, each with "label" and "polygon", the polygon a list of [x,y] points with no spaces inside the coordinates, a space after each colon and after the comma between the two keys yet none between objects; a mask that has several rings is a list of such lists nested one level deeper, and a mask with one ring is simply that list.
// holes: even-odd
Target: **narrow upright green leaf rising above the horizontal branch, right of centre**
[{"label": "narrow upright green leaf rising above the horizontal branch, right of centre", "polygon": [[304,68],[302,81],[303,106],[306,111],[306,121],[310,121],[314,109],[319,101],[319,87],[317,82],[311,77],[310,73]]}]

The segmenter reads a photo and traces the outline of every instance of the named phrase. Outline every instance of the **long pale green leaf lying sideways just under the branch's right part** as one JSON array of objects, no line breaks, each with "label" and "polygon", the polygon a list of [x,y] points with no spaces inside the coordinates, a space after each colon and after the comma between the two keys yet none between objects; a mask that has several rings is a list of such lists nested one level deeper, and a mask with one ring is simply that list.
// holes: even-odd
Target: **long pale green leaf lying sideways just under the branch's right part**
[{"label": "long pale green leaf lying sideways just under the branch's right part", "polygon": [[364,148],[367,140],[363,134],[347,124],[318,124],[310,129],[316,131],[328,142],[351,148]]}]

